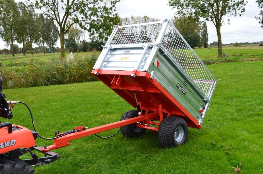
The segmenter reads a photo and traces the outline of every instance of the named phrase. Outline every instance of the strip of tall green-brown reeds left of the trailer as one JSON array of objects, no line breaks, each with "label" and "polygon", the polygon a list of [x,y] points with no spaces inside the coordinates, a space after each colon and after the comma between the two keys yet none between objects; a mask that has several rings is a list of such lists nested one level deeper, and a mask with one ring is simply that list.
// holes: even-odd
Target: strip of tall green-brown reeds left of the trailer
[{"label": "strip of tall green-brown reeds left of the trailer", "polygon": [[91,74],[92,68],[99,54],[74,60],[52,57],[45,62],[35,62],[33,59],[27,68],[18,66],[16,70],[0,69],[0,76],[4,79],[3,88],[26,88],[56,84],[79,83],[95,81],[97,78]]}]

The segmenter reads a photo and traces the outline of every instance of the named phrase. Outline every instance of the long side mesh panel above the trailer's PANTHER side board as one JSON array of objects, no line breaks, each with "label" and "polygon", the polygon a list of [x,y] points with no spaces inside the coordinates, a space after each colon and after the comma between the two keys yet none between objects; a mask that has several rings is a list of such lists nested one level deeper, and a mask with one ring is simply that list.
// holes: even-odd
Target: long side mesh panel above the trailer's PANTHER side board
[{"label": "long side mesh panel above the trailer's PANTHER side board", "polygon": [[170,24],[167,27],[162,45],[210,99],[215,87],[215,79]]}]

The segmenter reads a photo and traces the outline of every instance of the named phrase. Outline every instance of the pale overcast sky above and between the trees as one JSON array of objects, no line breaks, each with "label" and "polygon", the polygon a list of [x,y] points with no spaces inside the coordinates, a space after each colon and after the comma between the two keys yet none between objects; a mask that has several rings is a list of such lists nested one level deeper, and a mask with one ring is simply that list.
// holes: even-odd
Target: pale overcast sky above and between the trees
[{"label": "pale overcast sky above and between the trees", "polygon": [[[244,15],[237,18],[230,17],[231,24],[228,25],[225,21],[221,27],[222,43],[263,41],[263,29],[255,19],[260,10],[257,7],[256,0],[247,1]],[[120,17],[147,15],[161,20],[171,19],[176,11],[167,4],[168,0],[121,0],[117,4],[117,13]],[[207,25],[208,43],[217,41],[215,26],[212,22],[207,22]],[[59,44],[58,41],[57,46],[60,46]],[[0,39],[0,49],[6,48],[4,45],[5,43]],[[21,44],[18,45],[21,46]]]}]

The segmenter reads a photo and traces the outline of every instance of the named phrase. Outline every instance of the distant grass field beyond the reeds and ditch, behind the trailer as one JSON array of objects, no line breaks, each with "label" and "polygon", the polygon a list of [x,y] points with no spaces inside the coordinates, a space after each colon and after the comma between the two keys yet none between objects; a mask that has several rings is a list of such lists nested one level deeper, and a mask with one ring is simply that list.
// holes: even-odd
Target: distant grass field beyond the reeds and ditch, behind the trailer
[{"label": "distant grass field beyond the reeds and ditch, behind the trailer", "polygon": [[[251,60],[262,60],[263,59],[263,47],[256,45],[244,45],[241,47],[223,46],[222,50],[228,55],[228,57],[217,58],[218,48],[209,47],[209,48],[195,48],[194,51],[200,57],[200,59],[205,64],[213,63],[222,63],[222,62],[238,62],[238,61],[251,61]],[[74,57],[85,57],[92,54],[92,52],[83,52],[83,53],[73,53]],[[9,69],[17,69],[18,66],[27,66],[32,61],[45,62],[48,59],[55,57],[59,58],[60,53],[43,53],[26,54],[17,54],[15,57],[12,55],[0,55],[0,64],[2,67]]]}]

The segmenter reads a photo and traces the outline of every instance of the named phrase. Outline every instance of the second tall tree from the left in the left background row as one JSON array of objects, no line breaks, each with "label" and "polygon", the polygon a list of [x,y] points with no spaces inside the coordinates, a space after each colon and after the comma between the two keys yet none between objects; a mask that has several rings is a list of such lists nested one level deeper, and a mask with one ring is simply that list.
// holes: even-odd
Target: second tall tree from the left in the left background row
[{"label": "second tall tree from the left in the left background row", "polygon": [[28,38],[28,25],[27,25],[27,18],[28,18],[28,10],[26,4],[23,2],[18,2],[18,16],[16,18],[16,40],[18,43],[23,43],[23,55],[25,55],[25,42]]}]

